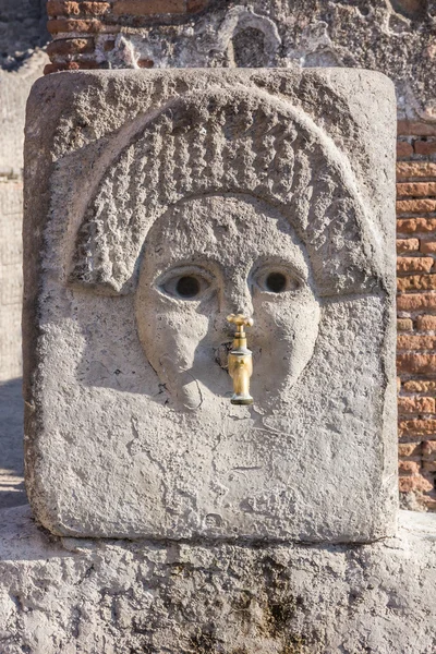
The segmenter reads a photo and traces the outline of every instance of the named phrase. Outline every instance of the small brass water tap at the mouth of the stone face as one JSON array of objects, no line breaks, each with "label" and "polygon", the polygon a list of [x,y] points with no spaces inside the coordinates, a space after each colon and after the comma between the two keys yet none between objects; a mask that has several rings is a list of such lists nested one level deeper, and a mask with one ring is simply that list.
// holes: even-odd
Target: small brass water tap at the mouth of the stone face
[{"label": "small brass water tap at the mouth of the stone face", "polygon": [[250,395],[250,377],[253,374],[253,355],[246,347],[246,335],[244,327],[252,327],[253,318],[242,314],[230,314],[227,316],[229,323],[237,325],[233,346],[229,353],[229,374],[233,379],[232,404],[253,404]]}]

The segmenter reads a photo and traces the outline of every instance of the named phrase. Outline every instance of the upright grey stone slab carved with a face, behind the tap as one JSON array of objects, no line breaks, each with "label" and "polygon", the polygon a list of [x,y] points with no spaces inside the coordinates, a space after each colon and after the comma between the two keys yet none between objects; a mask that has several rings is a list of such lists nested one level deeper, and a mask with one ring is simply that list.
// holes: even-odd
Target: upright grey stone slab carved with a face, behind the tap
[{"label": "upright grey stone slab carved with a face, behind the tap", "polygon": [[[25,438],[45,526],[392,533],[393,116],[392,85],[355,70],[35,85]],[[253,408],[229,402],[226,316],[239,311],[255,320]]]}]

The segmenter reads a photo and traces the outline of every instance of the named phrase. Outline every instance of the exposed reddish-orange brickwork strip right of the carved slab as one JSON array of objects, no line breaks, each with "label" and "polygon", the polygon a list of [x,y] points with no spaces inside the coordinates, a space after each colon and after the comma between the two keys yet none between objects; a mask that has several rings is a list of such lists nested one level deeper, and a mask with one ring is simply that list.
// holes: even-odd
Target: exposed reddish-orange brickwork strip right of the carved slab
[{"label": "exposed reddish-orange brickwork strip right of the carved slab", "polygon": [[397,196],[400,491],[436,510],[436,125],[398,123]]}]

